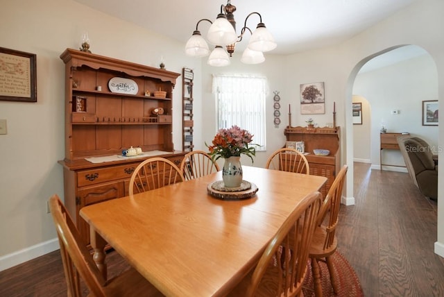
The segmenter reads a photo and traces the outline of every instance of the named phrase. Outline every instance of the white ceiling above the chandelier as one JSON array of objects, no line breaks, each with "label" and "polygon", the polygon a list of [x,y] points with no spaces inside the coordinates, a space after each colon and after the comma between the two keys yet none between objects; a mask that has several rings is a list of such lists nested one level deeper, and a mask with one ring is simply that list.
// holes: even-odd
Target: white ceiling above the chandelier
[{"label": "white ceiling above the chandelier", "polygon": [[[199,19],[214,21],[226,0],[76,0],[85,6],[132,22],[182,42],[185,46]],[[232,0],[237,33],[250,12],[259,12],[278,47],[271,53],[288,55],[298,51],[338,44],[417,0]],[[259,22],[252,15],[247,26]],[[210,23],[202,22],[205,37]],[[237,44],[244,49],[247,42]]]}]

